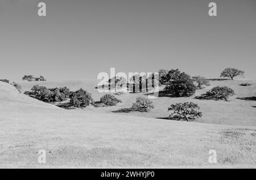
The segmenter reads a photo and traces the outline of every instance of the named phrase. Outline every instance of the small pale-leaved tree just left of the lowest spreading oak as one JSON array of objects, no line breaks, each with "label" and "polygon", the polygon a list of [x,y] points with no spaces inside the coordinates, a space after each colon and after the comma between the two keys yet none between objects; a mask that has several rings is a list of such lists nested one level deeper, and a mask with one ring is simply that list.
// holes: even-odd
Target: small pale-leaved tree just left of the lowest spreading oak
[{"label": "small pale-leaved tree just left of the lowest spreading oak", "polygon": [[150,109],[154,109],[153,102],[147,98],[137,97],[136,102],[131,107],[135,111],[148,112]]}]

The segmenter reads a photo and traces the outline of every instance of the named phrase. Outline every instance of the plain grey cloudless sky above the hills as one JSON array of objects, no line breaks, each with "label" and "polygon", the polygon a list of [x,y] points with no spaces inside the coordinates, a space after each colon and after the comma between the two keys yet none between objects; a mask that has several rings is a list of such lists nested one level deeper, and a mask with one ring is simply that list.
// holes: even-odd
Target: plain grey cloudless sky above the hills
[{"label": "plain grey cloudless sky above the hills", "polygon": [[255,32],[256,0],[0,0],[0,79],[97,79],[111,67],[255,79]]}]

